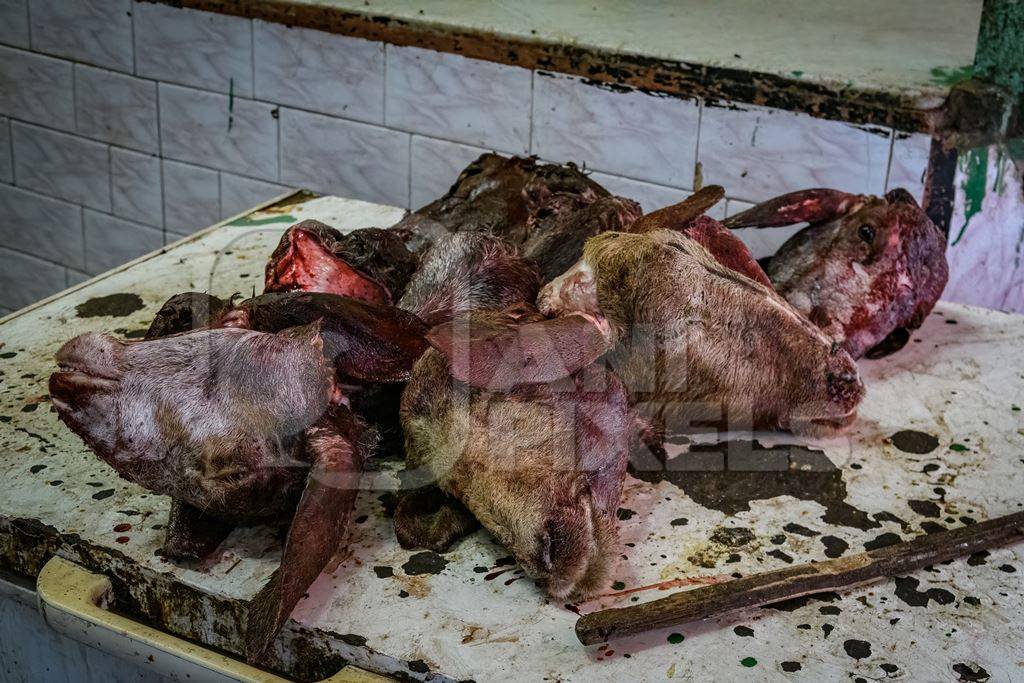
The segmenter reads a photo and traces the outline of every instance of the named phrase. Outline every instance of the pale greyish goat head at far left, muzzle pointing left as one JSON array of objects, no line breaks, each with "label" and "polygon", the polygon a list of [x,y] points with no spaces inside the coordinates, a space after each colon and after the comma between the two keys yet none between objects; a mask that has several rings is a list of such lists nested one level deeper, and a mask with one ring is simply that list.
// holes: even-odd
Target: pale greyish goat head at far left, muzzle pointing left
[{"label": "pale greyish goat head at far left, muzzle pointing left", "polygon": [[294,466],[335,392],[318,325],[134,342],[88,333],[56,361],[60,420],[121,476],[203,509],[264,469]]}]

